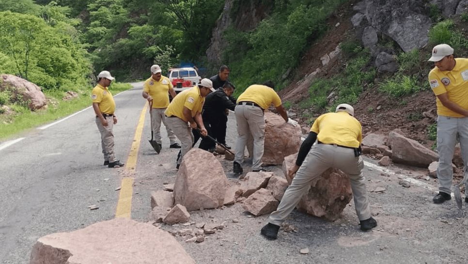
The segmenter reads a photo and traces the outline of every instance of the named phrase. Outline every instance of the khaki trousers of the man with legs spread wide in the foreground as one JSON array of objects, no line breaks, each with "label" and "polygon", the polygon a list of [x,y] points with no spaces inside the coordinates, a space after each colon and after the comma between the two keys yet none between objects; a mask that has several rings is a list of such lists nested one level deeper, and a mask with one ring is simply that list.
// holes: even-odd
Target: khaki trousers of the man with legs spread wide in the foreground
[{"label": "khaki trousers of the man with legs spread wide in the foreground", "polygon": [[359,220],[370,218],[371,210],[362,175],[364,168],[362,158],[355,157],[354,149],[351,148],[317,144],[312,146],[291,185],[286,189],[278,209],[270,214],[268,222],[281,226],[281,223],[291,214],[302,196],[309,191],[312,181],[320,177],[330,167],[341,169],[349,176]]}]

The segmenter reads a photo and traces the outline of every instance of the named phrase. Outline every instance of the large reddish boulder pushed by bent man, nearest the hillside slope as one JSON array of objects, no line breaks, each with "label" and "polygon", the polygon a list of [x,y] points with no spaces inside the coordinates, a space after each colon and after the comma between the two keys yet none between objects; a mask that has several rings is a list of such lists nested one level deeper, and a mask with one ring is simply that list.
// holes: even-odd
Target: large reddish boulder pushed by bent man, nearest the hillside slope
[{"label": "large reddish boulder pushed by bent man, nearest the hillside slope", "polygon": [[265,165],[281,165],[284,157],[299,151],[301,128],[284,122],[280,115],[265,112]]}]

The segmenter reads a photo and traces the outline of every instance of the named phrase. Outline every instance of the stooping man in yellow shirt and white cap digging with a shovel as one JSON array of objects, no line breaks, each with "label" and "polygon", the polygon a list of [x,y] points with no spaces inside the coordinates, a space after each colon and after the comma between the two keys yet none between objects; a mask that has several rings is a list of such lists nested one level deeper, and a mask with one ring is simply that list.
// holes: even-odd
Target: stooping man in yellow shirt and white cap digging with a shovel
[{"label": "stooping man in yellow shirt and white cap digging with a shovel", "polygon": [[212,91],[215,91],[213,82],[205,78],[200,84],[179,93],[166,109],[166,123],[182,145],[177,156],[177,169],[184,155],[192,148],[192,129],[199,128],[203,136],[208,134],[203,125],[202,109],[205,97]]}]

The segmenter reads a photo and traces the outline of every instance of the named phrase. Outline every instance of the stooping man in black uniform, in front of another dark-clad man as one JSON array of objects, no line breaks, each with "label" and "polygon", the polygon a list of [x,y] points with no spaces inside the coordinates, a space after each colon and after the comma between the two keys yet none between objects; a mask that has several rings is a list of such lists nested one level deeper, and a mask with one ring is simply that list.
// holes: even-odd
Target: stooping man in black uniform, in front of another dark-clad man
[{"label": "stooping man in black uniform, in front of another dark-clad man", "polygon": [[[206,96],[203,105],[202,117],[208,135],[223,145],[226,145],[227,115],[229,110],[234,111],[235,108],[235,99],[232,97],[234,89],[234,85],[226,81],[222,87]],[[197,142],[200,138],[200,133],[193,130],[193,135],[195,138],[194,142]],[[209,138],[202,138],[199,148],[212,151],[215,148],[215,143]]]}]

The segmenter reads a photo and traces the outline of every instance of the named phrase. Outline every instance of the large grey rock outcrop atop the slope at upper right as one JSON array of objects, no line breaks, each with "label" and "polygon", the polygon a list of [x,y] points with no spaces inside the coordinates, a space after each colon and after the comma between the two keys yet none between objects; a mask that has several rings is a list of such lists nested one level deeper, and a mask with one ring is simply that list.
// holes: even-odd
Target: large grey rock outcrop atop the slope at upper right
[{"label": "large grey rock outcrop atop the slope at upper right", "polygon": [[424,0],[366,0],[366,5],[369,23],[395,40],[405,52],[427,43],[431,20],[423,15]]}]

